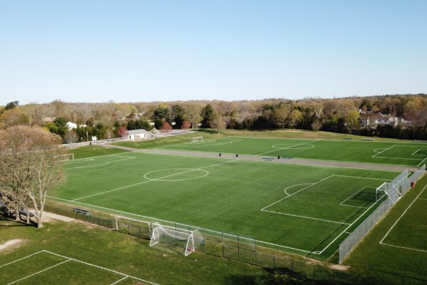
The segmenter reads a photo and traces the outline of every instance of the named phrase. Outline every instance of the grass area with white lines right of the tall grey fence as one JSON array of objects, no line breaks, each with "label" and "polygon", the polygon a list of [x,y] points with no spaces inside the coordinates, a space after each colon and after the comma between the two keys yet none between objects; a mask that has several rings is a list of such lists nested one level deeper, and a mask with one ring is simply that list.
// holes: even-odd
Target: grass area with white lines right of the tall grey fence
[{"label": "grass area with white lines right of the tall grey fence", "polygon": [[[392,274],[394,280],[408,276],[417,279],[414,282],[427,284],[426,187],[427,175],[399,200],[344,264],[351,265],[354,271],[375,269],[379,275],[381,271]],[[389,234],[383,243],[389,245],[380,244],[387,232]],[[411,283],[406,281],[405,284]]]}]

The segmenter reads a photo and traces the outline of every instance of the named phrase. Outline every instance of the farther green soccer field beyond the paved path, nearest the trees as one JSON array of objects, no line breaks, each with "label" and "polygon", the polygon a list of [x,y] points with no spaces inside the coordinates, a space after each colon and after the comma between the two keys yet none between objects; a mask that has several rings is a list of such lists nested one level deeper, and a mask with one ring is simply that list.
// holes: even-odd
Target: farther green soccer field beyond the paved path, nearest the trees
[{"label": "farther green soccer field beyond the paved path, nearest the trees", "polygon": [[420,166],[427,160],[427,144],[419,142],[226,137],[163,148],[408,166]]}]

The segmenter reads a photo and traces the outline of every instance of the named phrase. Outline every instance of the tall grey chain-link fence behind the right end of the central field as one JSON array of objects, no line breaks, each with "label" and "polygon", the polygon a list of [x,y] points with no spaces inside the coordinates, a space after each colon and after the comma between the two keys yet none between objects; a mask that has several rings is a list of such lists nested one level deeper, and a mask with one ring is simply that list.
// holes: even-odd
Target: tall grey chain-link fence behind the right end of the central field
[{"label": "tall grey chain-link fence behind the right end of the central field", "polygon": [[420,179],[426,173],[426,165],[423,165],[418,168],[412,175],[409,175],[410,172],[405,170],[399,176],[394,178],[389,183],[389,193],[394,193],[389,195],[387,199],[381,203],[381,205],[372,212],[367,219],[362,222],[362,224],[355,229],[352,234],[349,234],[347,239],[339,244],[339,263],[341,264],[344,261],[347,254],[354,249],[357,244],[368,234],[368,232],[379,222],[379,220],[384,217],[387,212],[394,206],[397,200],[408,192],[408,190],[415,185],[416,181]]}]

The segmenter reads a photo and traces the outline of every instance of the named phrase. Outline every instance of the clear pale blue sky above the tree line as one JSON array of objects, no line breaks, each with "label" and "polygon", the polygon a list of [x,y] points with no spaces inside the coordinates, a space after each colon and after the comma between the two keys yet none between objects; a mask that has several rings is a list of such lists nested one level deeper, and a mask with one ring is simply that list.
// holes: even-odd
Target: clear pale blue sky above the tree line
[{"label": "clear pale blue sky above the tree line", "polygon": [[0,0],[0,105],[427,93],[427,1]]}]

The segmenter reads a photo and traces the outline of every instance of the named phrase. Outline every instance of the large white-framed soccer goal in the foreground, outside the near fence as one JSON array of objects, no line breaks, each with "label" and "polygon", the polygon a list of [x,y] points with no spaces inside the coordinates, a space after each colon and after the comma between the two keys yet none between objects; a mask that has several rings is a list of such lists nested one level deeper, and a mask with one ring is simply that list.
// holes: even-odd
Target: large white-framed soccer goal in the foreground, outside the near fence
[{"label": "large white-framed soccer goal in the foreground, outside the near fence", "polygon": [[156,244],[163,245],[164,247],[176,247],[178,251],[184,253],[185,256],[191,254],[196,250],[199,244],[204,243],[204,237],[198,229],[187,230],[178,229],[175,227],[168,227],[159,224],[158,222],[152,223],[152,237],[149,242],[150,247]]}]

